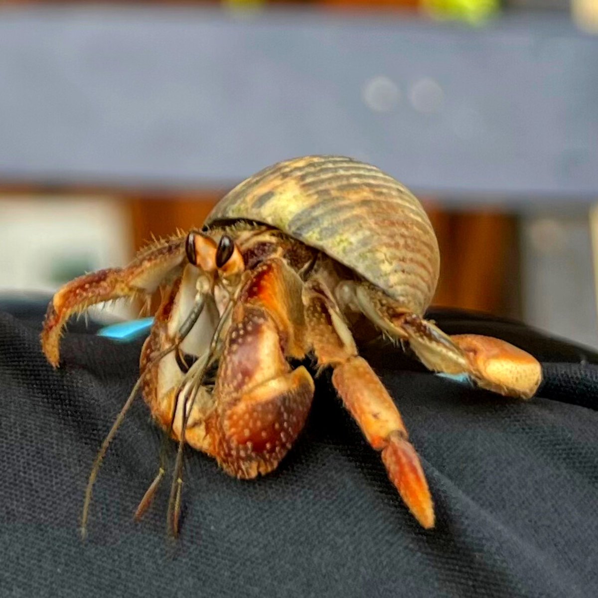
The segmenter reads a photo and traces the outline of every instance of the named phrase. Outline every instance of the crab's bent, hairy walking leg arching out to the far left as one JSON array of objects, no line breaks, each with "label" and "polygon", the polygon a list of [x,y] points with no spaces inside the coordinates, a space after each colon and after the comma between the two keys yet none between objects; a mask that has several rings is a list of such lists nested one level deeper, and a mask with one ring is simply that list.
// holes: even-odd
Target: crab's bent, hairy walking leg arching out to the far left
[{"label": "crab's bent, hairy walking leg arching out to the far left", "polygon": [[60,361],[60,334],[74,313],[121,297],[147,297],[183,261],[185,237],[177,237],[139,252],[124,268],[109,268],[80,276],[56,292],[45,315],[42,349],[54,367]]}]

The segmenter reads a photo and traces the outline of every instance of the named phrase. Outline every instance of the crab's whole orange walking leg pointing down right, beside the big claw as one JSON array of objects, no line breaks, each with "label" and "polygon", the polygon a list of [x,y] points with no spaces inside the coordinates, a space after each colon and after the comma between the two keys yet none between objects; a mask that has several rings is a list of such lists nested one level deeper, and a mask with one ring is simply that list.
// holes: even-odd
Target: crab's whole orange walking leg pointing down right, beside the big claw
[{"label": "crab's whole orange walking leg pointing down right, beside the big claw", "polygon": [[332,383],[371,446],[382,460],[411,513],[423,527],[434,527],[434,507],[422,465],[401,415],[386,388],[365,359],[340,310],[318,280],[303,292],[310,341],[320,366],[334,368]]}]

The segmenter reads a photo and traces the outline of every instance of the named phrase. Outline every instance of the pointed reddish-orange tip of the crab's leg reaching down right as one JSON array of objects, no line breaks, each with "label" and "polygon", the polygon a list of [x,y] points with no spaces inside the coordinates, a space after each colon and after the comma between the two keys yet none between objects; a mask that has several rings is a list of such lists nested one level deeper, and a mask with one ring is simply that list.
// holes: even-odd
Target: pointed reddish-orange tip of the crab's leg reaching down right
[{"label": "pointed reddish-orange tip of the crab's leg reaching down right", "polygon": [[391,434],[388,445],[382,450],[382,461],[390,481],[399,491],[411,514],[425,529],[434,527],[434,504],[413,445],[400,434]]}]

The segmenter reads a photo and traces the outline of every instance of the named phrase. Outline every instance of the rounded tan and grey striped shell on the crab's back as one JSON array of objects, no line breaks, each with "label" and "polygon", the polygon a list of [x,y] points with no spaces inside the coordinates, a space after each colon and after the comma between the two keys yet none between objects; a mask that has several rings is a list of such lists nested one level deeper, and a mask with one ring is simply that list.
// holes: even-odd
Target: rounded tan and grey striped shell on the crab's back
[{"label": "rounded tan and grey striped shell on the crab's back", "polygon": [[414,313],[432,300],[434,229],[416,197],[375,166],[327,155],[279,162],[237,185],[206,224],[239,218],[321,250]]}]

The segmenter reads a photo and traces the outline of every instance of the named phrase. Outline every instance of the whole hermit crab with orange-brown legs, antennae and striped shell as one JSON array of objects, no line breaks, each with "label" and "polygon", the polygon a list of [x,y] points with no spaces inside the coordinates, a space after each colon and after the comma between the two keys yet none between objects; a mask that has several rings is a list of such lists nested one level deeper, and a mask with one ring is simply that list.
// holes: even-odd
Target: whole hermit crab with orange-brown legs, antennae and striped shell
[{"label": "whole hermit crab with orange-brown legs, antennae and striped shell", "polygon": [[[303,365],[331,368],[332,384],[390,482],[425,527],[434,507],[422,465],[392,397],[359,356],[364,327],[400,341],[429,370],[465,374],[484,389],[530,398],[541,382],[533,356],[496,338],[444,334],[423,318],[438,280],[434,230],[419,201],[377,167],[341,156],[270,166],[239,184],[201,230],[145,248],[128,266],[67,283],[48,306],[41,335],[59,365],[61,331],[74,313],[120,297],[162,291],[141,352],[136,390],[179,442],[168,525],[181,507],[182,446],[214,457],[228,474],[272,471],[306,422],[314,383]],[[147,508],[161,466],[139,505]]]}]

